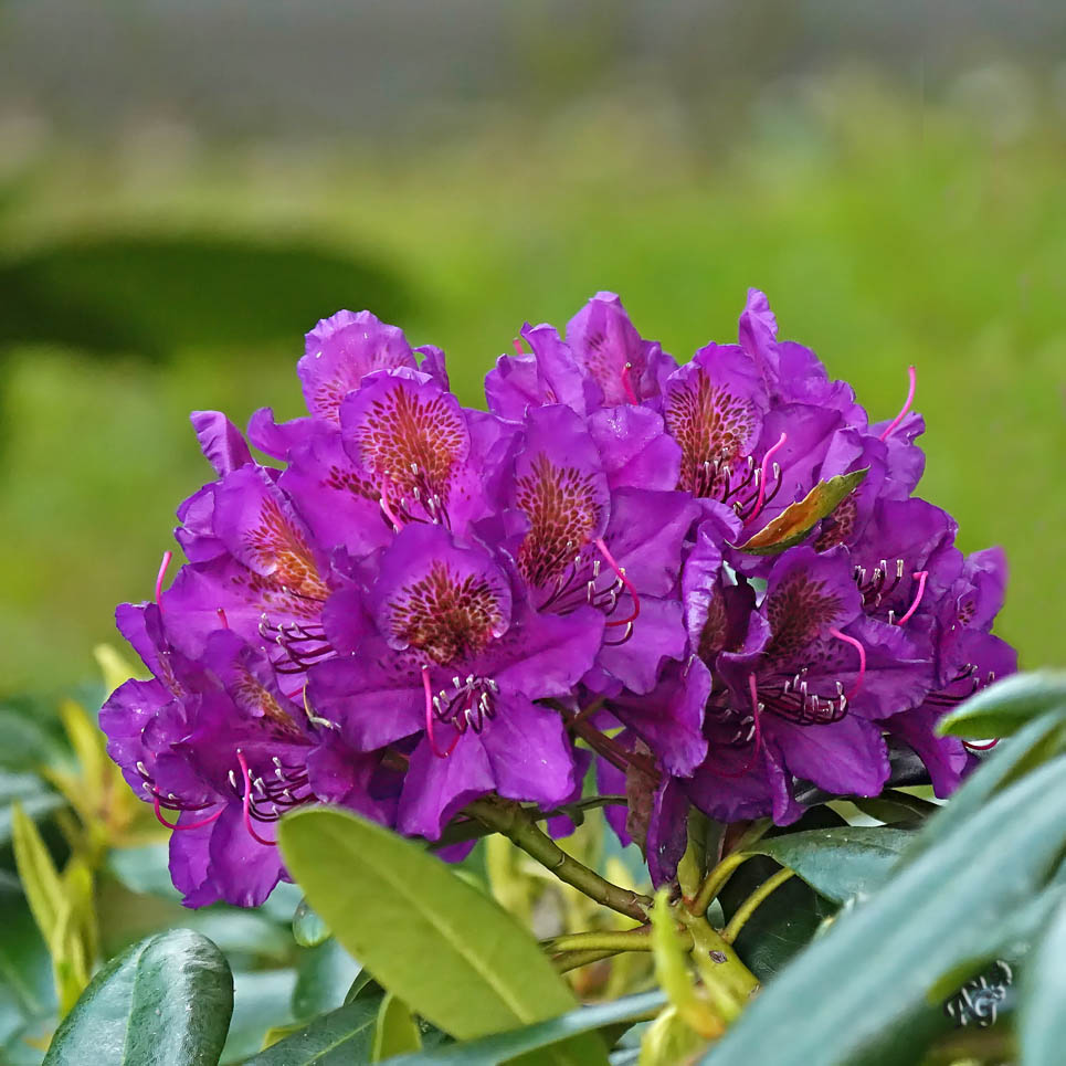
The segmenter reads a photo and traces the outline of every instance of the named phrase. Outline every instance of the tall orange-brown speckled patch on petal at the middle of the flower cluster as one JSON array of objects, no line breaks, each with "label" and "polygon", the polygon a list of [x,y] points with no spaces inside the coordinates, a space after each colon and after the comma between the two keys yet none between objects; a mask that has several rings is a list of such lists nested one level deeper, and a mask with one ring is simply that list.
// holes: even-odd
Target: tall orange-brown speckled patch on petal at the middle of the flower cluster
[{"label": "tall orange-brown speckled patch on petal at the middle of the flower cluster", "polygon": [[591,474],[556,466],[541,454],[518,478],[516,499],[530,523],[518,568],[531,584],[543,585],[563,573],[599,526],[597,485]]}]

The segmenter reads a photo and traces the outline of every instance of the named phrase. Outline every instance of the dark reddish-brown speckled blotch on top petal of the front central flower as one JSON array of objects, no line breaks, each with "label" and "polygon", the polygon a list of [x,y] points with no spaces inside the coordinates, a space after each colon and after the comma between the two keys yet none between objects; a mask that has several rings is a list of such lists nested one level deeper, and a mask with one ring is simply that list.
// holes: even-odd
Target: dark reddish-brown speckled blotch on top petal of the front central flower
[{"label": "dark reddish-brown speckled blotch on top petal of the front central flower", "polygon": [[486,578],[460,578],[443,562],[405,585],[389,612],[397,637],[442,666],[476,655],[504,621],[498,593]]}]

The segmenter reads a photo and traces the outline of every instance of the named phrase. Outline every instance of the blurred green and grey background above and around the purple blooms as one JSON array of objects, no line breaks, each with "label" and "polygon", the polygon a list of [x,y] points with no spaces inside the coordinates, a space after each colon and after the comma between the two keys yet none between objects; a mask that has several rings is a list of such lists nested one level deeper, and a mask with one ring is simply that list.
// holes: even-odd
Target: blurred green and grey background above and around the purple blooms
[{"label": "blurred green and grey background above and around the purple blooms", "polygon": [[[933,10],[935,8],[935,10]],[[479,381],[619,292],[687,358],[749,285],[1002,543],[1066,663],[1062,4],[0,3],[0,694],[94,675],[208,476],[369,307]]]}]

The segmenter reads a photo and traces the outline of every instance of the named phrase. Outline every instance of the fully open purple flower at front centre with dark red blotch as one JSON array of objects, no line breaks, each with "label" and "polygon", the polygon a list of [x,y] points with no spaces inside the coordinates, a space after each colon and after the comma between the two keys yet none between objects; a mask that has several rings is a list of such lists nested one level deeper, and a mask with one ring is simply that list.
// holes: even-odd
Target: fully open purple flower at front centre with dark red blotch
[{"label": "fully open purple flower at front centre with dark red blotch", "polygon": [[562,718],[535,700],[568,696],[592,666],[597,611],[538,614],[486,551],[413,524],[368,588],[334,594],[326,623],[350,654],[312,669],[312,706],[359,751],[410,750],[401,832],[435,840],[493,791],[545,809],[572,794]]}]

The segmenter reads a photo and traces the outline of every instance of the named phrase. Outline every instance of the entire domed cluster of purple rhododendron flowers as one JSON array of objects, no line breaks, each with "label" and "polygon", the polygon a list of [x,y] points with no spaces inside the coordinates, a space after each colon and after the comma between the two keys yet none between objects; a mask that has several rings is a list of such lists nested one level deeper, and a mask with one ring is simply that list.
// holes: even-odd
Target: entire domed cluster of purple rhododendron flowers
[{"label": "entire domed cluster of purple rhododendron flowers", "polygon": [[279,467],[193,414],[218,476],[178,511],[173,583],[118,609],[154,676],[101,716],[175,817],[188,905],[261,903],[270,823],[308,803],[446,842],[479,796],[573,802],[594,761],[663,883],[689,804],[787,824],[798,780],[875,795],[886,736],[958,784],[970,757],[933,725],[1015,667],[990,633],[1005,566],[911,495],[910,400],[870,424],[753,289],[739,344],[684,366],[608,293],[521,338],[485,412],[439,349],[323,320],[308,416],[251,420]]}]

